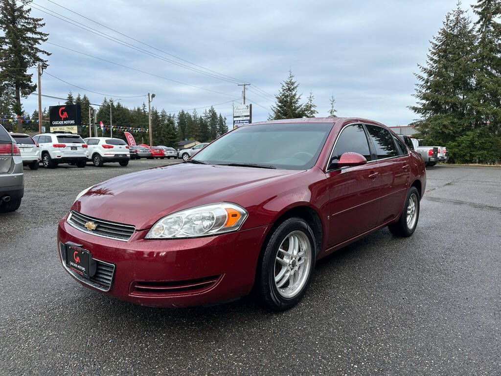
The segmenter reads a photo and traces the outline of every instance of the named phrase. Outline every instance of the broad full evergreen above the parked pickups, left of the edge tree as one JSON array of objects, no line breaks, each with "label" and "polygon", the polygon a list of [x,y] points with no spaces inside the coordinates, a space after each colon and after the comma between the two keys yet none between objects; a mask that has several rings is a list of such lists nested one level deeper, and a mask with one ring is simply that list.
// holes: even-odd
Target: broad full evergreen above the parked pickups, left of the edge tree
[{"label": "broad full evergreen above the parked pickups, left of the edge tree", "polygon": [[471,129],[475,35],[460,3],[447,13],[443,27],[433,37],[425,66],[418,65],[410,108],[421,116],[414,123],[418,137],[433,144],[447,144]]}]

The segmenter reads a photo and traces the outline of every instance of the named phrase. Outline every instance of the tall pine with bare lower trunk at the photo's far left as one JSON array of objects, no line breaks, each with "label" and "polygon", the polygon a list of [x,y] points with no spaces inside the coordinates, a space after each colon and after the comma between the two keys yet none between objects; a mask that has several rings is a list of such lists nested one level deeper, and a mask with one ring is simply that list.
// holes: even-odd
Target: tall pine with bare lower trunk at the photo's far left
[{"label": "tall pine with bare lower trunk at the photo's far left", "polygon": [[[40,56],[50,53],[38,48],[49,34],[40,31],[45,26],[42,19],[30,17],[31,8],[18,6],[16,0],[0,0],[0,82],[14,90],[13,110],[23,115],[21,97],[27,98],[37,85],[32,83],[33,73],[28,68],[46,63]],[[23,131],[19,122],[18,131]]]}]

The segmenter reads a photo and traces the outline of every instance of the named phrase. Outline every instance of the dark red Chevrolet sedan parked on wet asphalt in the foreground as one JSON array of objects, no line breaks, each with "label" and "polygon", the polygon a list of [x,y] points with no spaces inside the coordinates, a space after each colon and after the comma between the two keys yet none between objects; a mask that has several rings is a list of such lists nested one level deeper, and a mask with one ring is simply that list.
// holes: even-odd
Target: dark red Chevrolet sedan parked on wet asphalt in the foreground
[{"label": "dark red Chevrolet sedan parked on wet asphalt in the foreground", "polygon": [[255,123],[82,191],[58,254],[81,284],[130,302],[211,304],[255,287],[282,310],[318,259],[385,226],[412,235],[425,184],[421,156],[375,121]]}]

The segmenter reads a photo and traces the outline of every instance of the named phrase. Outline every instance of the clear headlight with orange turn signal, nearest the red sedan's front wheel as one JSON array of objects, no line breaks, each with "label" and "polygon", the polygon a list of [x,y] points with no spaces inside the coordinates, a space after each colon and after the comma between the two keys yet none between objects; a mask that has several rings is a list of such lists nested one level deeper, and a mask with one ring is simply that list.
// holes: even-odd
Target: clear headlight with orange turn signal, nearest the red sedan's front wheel
[{"label": "clear headlight with orange turn signal, nearest the red sedan's front wheel", "polygon": [[169,214],[146,234],[146,239],[195,238],[236,231],[247,218],[247,211],[230,203],[202,205]]}]

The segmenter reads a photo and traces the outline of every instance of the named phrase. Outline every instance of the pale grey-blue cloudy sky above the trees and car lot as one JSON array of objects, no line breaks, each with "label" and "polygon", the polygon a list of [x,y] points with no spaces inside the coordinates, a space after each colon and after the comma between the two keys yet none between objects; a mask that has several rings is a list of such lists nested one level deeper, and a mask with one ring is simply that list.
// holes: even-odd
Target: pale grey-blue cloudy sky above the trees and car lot
[{"label": "pale grey-blue cloudy sky above the trees and car lot", "polygon": [[[406,106],[414,103],[416,64],[424,63],[429,40],[455,4],[35,0],[32,15],[44,18],[52,43],[44,45],[52,52],[42,78],[44,94],[66,97],[71,90],[101,103],[104,95],[94,91],[133,107],[146,98],[132,97],[150,92],[156,95],[152,105],[169,112],[219,104],[216,111],[230,123],[231,101],[241,102],[236,82],[246,81],[251,84],[247,99],[254,103],[253,120],[260,121],[268,117],[270,95],[278,92],[291,69],[303,100],[313,91],[318,116],[327,115],[334,94],[338,116],[362,116],[391,126],[415,118]],[[462,7],[469,9],[469,2]],[[36,96],[23,104],[31,113],[37,108]],[[43,107],[54,104],[57,99],[43,98]]]}]

